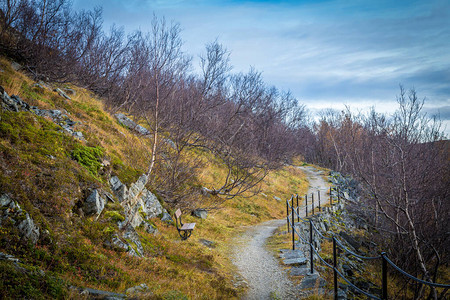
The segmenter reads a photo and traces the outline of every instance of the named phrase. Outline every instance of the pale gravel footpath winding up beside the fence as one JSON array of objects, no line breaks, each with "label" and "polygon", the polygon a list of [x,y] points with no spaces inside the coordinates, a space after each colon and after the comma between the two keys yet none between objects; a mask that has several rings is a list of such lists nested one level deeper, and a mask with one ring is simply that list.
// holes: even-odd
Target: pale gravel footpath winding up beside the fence
[{"label": "pale gravel footpath winding up beside the fence", "polygon": [[[308,195],[320,190],[320,198],[326,199],[327,182],[320,176],[321,171],[313,167],[299,167],[308,177]],[[308,196],[309,197],[309,196]],[[315,205],[318,205],[316,201]],[[300,212],[304,216],[305,212]],[[248,284],[248,293],[244,299],[296,299],[298,291],[289,279],[278,260],[265,248],[267,239],[280,226],[286,225],[286,220],[271,220],[249,227],[235,239],[232,260],[241,276]]]}]

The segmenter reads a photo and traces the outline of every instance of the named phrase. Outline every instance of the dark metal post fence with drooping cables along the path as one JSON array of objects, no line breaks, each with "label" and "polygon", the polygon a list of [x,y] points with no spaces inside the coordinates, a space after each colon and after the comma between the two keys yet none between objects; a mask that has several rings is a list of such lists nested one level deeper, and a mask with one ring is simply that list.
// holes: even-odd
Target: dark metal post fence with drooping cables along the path
[{"label": "dark metal post fence with drooping cables along the path", "polygon": [[[336,189],[337,190],[337,198],[338,198],[338,203],[340,203],[340,191],[339,188]],[[320,207],[320,191],[318,191],[318,200],[319,200],[319,207]],[[311,194],[311,199],[312,199],[312,215],[314,215],[314,193]],[[294,197],[297,200],[297,207],[294,207]],[[437,287],[437,288],[444,288],[445,290],[443,291],[442,295],[444,295],[446,293],[446,291],[450,288],[450,285],[448,284],[440,284],[440,283],[434,283],[434,282],[429,282],[429,281],[425,281],[419,278],[414,277],[413,275],[407,273],[406,271],[402,270],[400,267],[398,267],[397,265],[395,265],[388,257],[387,254],[385,252],[381,252],[381,254],[379,256],[374,256],[374,257],[369,257],[369,256],[362,256],[359,254],[354,253],[353,251],[349,250],[347,247],[345,247],[341,241],[339,241],[334,234],[332,234],[331,237],[326,237],[324,236],[322,233],[320,233],[320,231],[317,229],[317,227],[313,224],[312,220],[306,220],[300,217],[300,206],[298,204],[298,195],[294,196],[292,195],[290,199],[286,200],[286,220],[287,220],[287,227],[288,227],[288,232],[290,232],[290,230],[292,231],[292,250],[295,250],[295,235],[298,236],[299,239],[301,239],[305,244],[310,246],[310,272],[311,274],[314,272],[314,253],[316,253],[317,257],[320,259],[320,261],[326,265],[328,268],[333,270],[333,281],[334,281],[334,299],[337,299],[338,296],[338,283],[337,283],[337,276],[339,275],[339,277],[341,277],[345,282],[347,282],[349,284],[350,287],[352,287],[353,289],[355,289],[356,291],[364,294],[365,296],[371,298],[371,299],[388,299],[388,286],[387,286],[387,265],[389,264],[391,267],[393,267],[395,270],[397,270],[398,272],[400,272],[401,274],[403,274],[404,276],[407,276],[408,278],[420,283],[420,284],[425,284],[428,285],[430,287]],[[306,216],[308,216],[308,195],[305,195],[305,213]],[[291,202],[291,204],[289,204],[289,202]],[[332,188],[330,187],[330,205],[333,205],[333,199],[332,199]],[[291,209],[291,214],[289,214],[289,209]],[[320,210],[320,208],[319,208]],[[291,215],[291,216],[289,216]],[[296,225],[295,225],[295,215],[297,215],[297,222],[300,223],[300,220],[302,222],[309,222],[309,241],[307,241],[305,238],[303,238],[301,236],[301,234],[297,231]],[[329,263],[327,263],[319,254],[319,252],[315,249],[314,247],[314,238],[313,238],[313,231],[316,232],[316,234],[318,234],[321,238],[328,240],[328,241],[332,241],[333,242],[333,265],[330,265]],[[360,289],[359,287],[357,287],[356,285],[354,285],[352,282],[350,282],[347,278],[345,278],[345,276],[339,272],[339,270],[337,269],[337,247],[340,247],[342,250],[344,250],[345,252],[359,258],[359,259],[364,259],[364,260],[377,260],[377,259],[381,259],[382,260],[382,271],[381,271],[381,283],[382,283],[382,290],[381,290],[381,298],[379,298],[378,296],[372,295],[362,289]]]}]

